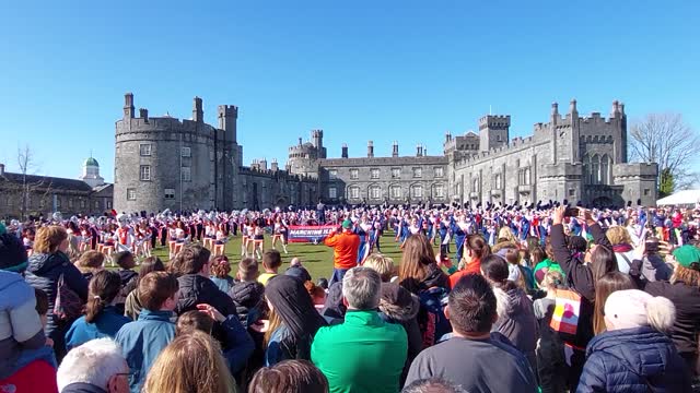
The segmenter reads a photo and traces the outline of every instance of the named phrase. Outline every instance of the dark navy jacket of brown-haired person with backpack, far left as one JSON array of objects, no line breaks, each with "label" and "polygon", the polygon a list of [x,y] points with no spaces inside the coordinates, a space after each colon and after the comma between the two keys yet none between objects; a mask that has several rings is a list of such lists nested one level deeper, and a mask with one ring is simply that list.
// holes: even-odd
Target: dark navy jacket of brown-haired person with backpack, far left
[{"label": "dark navy jacket of brown-haired person with backpack, far left", "polygon": [[[46,334],[57,329],[58,324],[63,325],[54,319],[54,305],[56,302],[56,287],[58,278],[63,275],[65,283],[85,301],[88,299],[88,281],[82,273],[75,267],[68,257],[58,251],[52,254],[34,253],[30,257],[30,263],[25,272],[25,281],[36,289],[42,289],[48,297],[48,322],[46,324]],[[70,326],[70,324],[68,325]],[[65,326],[66,330],[68,326]],[[63,332],[65,333],[65,332]]]}]

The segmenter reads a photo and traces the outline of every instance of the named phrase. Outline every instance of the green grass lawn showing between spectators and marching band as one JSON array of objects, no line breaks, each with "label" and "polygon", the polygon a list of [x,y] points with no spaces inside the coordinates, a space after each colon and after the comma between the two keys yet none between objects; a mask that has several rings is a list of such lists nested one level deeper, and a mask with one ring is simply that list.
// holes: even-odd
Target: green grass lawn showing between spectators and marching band
[{"label": "green grass lawn showing between spectators and marching band", "polygon": [[[382,247],[382,251],[385,255],[388,255],[394,259],[394,263],[398,265],[401,261],[401,250],[399,249],[398,242],[394,241],[394,236],[392,234],[385,234],[380,245]],[[265,237],[265,250],[268,250],[272,247],[271,237]],[[277,245],[277,249],[282,253],[282,267],[280,269],[280,273],[284,272],[287,267],[289,267],[289,261],[298,257],[302,260],[302,264],[311,276],[316,282],[320,277],[328,278],[332,273],[332,249],[330,247],[324,245],[313,245],[313,243],[289,243],[287,250],[288,254],[284,254],[282,247],[280,243]],[[435,247],[435,250],[438,248]],[[154,255],[161,258],[163,262],[167,262],[167,247],[158,247],[154,250]],[[226,257],[231,261],[232,275],[235,275],[236,267],[235,265],[241,261],[241,237],[234,237],[229,240],[226,245]],[[260,271],[262,267],[260,266]]]}]

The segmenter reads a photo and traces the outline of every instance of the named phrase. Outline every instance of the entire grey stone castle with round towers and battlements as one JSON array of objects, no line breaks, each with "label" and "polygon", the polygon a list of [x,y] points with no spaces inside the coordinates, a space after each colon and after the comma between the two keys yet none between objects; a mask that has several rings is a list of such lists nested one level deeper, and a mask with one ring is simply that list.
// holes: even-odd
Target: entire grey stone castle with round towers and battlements
[{"label": "entire grey stone castle with round towers and battlements", "polygon": [[114,205],[117,211],[158,212],[260,210],[326,203],[527,203],[581,201],[586,205],[621,206],[629,201],[654,205],[657,166],[627,162],[625,105],[612,103],[609,118],[598,112],[580,117],[572,100],[564,116],[552,104],[547,123],[533,136],[510,139],[510,116],[485,116],[478,134],[445,135],[442,155],[422,145],[400,155],[329,158],[323,130],[311,141],[289,147],[284,169],[272,159],[243,166],[237,143],[238,108],[218,107],[218,126],[203,120],[201,98],[192,117],[136,116],[133,95],[125,96],[124,116],[116,122]]}]

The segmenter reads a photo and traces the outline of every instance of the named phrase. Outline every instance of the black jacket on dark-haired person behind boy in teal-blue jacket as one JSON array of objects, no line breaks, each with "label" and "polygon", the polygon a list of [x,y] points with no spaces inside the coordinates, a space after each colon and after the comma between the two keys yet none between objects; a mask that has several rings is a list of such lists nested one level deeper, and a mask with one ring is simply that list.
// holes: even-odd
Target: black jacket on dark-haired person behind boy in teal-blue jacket
[{"label": "black jacket on dark-haired person behind boy in teal-blue jacket", "polygon": [[207,303],[219,310],[224,317],[236,315],[236,307],[228,294],[221,291],[209,277],[199,274],[185,274],[177,278],[179,298],[175,312],[180,315],[197,310],[197,305]]}]

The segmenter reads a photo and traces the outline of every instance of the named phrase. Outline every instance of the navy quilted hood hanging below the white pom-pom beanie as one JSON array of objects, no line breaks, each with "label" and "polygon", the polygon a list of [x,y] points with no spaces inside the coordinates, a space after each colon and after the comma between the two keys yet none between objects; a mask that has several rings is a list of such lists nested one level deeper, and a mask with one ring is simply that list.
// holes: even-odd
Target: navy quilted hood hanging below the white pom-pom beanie
[{"label": "navy quilted hood hanging below the white pom-pom beanie", "polygon": [[628,370],[642,377],[664,372],[678,356],[670,338],[650,326],[622,329],[595,336],[586,348],[586,357],[604,352]]}]

